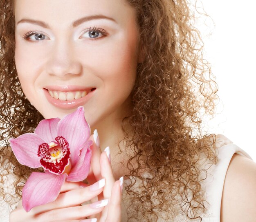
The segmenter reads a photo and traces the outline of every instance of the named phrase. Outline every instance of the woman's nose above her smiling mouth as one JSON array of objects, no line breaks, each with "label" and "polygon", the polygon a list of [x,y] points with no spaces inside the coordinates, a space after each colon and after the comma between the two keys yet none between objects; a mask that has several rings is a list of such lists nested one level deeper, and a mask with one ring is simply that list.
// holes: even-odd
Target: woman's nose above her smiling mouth
[{"label": "woman's nose above her smiling mouth", "polygon": [[74,50],[72,44],[64,41],[55,44],[48,57],[46,72],[60,79],[69,79],[81,74],[82,65],[76,59]]}]

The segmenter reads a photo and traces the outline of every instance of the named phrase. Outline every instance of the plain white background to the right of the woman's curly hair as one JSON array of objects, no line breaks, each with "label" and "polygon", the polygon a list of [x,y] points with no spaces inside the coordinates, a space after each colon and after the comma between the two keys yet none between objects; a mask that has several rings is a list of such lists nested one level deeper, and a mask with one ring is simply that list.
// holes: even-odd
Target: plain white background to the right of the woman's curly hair
[{"label": "plain white background to the right of the woman's curly hair", "polygon": [[256,2],[202,0],[197,5],[200,12],[203,5],[215,23],[197,15],[204,57],[219,87],[220,104],[211,132],[224,134],[256,162]]}]

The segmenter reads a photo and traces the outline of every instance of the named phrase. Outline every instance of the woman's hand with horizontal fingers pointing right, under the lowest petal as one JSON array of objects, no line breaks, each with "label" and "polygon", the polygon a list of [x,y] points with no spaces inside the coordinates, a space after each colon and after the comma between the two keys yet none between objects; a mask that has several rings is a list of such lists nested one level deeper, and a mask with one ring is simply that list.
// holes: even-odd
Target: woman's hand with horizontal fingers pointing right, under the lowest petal
[{"label": "woman's hand with horizontal fingers pointing right, under the lowest petal", "polygon": [[56,200],[34,207],[29,212],[23,209],[20,200],[18,207],[11,211],[9,222],[80,222],[104,209],[107,201],[81,206],[82,203],[97,197],[103,191],[104,184],[104,179],[90,186],[82,182],[65,182]]}]

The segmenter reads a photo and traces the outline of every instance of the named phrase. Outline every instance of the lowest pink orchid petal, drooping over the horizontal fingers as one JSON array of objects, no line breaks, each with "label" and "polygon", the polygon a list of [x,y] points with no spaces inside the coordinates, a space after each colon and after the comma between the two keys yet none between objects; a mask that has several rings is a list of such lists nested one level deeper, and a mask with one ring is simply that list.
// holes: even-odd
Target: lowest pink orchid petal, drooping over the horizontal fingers
[{"label": "lowest pink orchid petal, drooping over the horizontal fingers", "polygon": [[33,207],[56,200],[66,174],[54,175],[33,172],[22,190],[22,206],[29,212]]}]

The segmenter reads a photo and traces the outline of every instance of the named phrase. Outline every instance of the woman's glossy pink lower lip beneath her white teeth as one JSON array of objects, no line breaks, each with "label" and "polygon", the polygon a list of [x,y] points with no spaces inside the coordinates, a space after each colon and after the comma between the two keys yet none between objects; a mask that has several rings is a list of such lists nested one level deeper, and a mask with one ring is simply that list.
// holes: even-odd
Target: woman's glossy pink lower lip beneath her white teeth
[{"label": "woman's glossy pink lower lip beneath her white teeth", "polygon": [[[59,89],[59,88],[58,88]],[[55,88],[55,90],[57,90],[57,88]],[[94,90],[92,90],[91,92],[89,92],[85,97],[82,97],[80,99],[73,99],[73,100],[59,100],[59,99],[55,99],[53,98],[47,89],[43,89],[44,93],[45,93],[45,97],[46,99],[49,101],[49,103],[51,103],[53,106],[56,106],[58,108],[62,108],[62,109],[72,109],[72,108],[77,108],[79,106],[83,106],[93,95]],[[61,90],[60,90],[61,91]],[[63,91],[63,90],[62,90]],[[69,88],[69,91],[71,91],[71,89]]]}]

